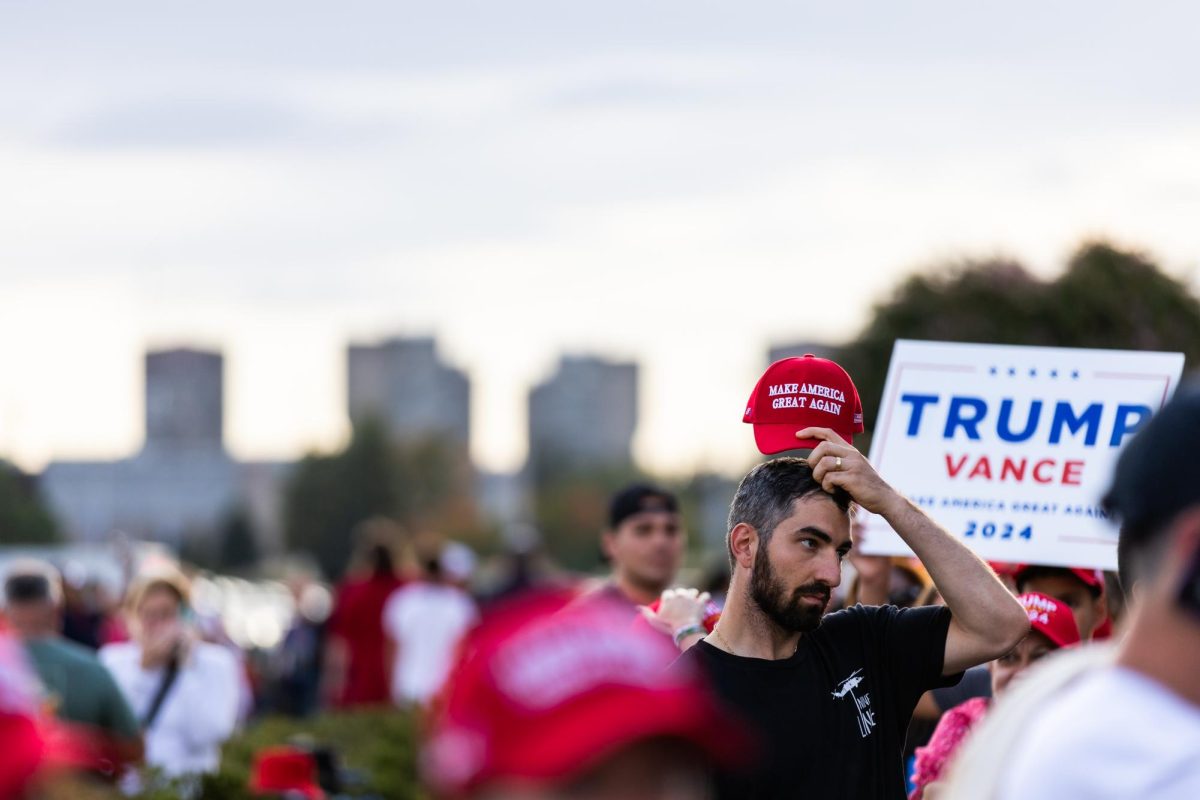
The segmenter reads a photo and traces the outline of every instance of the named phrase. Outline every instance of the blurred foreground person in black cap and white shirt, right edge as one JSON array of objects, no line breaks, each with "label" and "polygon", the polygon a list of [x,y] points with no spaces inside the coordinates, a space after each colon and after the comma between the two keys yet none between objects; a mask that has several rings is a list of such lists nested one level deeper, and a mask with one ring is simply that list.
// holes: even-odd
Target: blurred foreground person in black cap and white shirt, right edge
[{"label": "blurred foreground person in black cap and white shirt, right edge", "polygon": [[1121,523],[1122,579],[1138,587],[1115,662],[1074,676],[1038,709],[994,796],[1200,798],[1198,452],[1193,385],[1129,441],[1104,498]]}]

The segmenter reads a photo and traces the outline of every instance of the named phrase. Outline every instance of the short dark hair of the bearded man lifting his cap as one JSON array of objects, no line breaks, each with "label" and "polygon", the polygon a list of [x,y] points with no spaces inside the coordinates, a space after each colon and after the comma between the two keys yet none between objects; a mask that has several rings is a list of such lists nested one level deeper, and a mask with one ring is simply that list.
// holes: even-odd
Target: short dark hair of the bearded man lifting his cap
[{"label": "short dark hair of the bearded man lifting his cap", "polygon": [[[803,458],[774,458],[758,464],[742,479],[730,504],[726,533],[732,533],[739,523],[746,523],[758,531],[763,543],[770,541],[779,523],[792,513],[792,504],[809,495],[821,493],[829,498],[844,513],[851,513],[853,500],[842,488],[826,493],[812,480],[812,468]],[[728,541],[726,540],[728,545]],[[730,545],[730,563],[733,549]]]}]

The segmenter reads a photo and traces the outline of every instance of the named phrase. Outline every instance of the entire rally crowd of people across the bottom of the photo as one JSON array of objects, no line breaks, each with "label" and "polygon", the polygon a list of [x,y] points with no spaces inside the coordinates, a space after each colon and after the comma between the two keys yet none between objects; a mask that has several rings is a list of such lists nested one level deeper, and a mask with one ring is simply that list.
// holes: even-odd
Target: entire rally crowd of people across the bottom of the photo
[{"label": "entire rally crowd of people across the bottom of the photo", "polygon": [[[1200,796],[1200,395],[1121,456],[1120,575],[985,564],[836,434],[802,433],[808,459],[743,479],[709,585],[677,584],[686,521],[646,483],[612,498],[601,578],[517,547],[473,591],[468,547],[401,558],[372,523],[331,597],[296,582],[260,663],[197,624],[172,565],[106,615],[49,564],[13,564],[0,796],[55,770],[136,790],[143,766],[217,769],[257,711],[385,705],[422,721],[422,780],[445,798]],[[856,506],[917,558],[856,553]],[[276,748],[253,787],[319,796],[316,770]]]}]

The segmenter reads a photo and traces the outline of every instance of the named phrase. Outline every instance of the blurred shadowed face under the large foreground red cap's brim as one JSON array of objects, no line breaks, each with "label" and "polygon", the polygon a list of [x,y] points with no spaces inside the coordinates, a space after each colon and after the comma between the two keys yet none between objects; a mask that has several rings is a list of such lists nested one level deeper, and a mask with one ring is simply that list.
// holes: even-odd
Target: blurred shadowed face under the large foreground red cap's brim
[{"label": "blurred shadowed face under the large foreground red cap's brim", "polygon": [[694,747],[667,740],[626,747],[558,787],[502,787],[478,800],[707,800],[708,769]]}]

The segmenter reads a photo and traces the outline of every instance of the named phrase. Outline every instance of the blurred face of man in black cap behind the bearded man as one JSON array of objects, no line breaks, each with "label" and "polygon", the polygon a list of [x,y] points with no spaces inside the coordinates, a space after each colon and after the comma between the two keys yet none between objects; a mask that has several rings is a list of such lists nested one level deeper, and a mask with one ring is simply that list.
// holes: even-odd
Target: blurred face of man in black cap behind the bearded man
[{"label": "blurred face of man in black cap behind the bearded man", "polygon": [[671,511],[641,511],[604,535],[613,571],[654,594],[674,581],[685,545],[683,519]]}]

